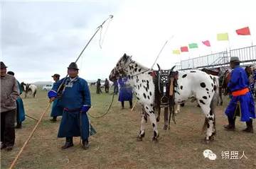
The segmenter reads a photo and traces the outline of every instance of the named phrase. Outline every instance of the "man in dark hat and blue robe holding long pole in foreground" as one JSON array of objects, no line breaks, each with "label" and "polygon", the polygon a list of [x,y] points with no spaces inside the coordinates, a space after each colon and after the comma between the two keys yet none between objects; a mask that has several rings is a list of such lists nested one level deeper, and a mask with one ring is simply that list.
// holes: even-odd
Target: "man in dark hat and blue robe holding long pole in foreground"
[{"label": "man in dark hat and blue robe holding long pole in foreground", "polygon": [[60,105],[63,106],[63,118],[60,122],[58,137],[65,137],[65,145],[62,148],[73,146],[73,136],[81,136],[82,148],[89,148],[88,137],[90,124],[87,111],[91,107],[90,91],[85,79],[78,77],[78,66],[72,62],[68,66],[68,77],[63,78],[48,92],[50,102],[57,97],[57,91],[63,82],[63,90],[60,94]]}]

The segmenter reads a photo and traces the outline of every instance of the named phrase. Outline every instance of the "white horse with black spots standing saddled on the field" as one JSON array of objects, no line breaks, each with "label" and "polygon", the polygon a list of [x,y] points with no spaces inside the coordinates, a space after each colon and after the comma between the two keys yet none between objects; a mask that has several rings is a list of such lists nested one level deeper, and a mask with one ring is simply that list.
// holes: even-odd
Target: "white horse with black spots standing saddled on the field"
[{"label": "white horse with black spots standing saddled on the field", "polygon": [[[156,115],[154,107],[154,70],[146,68],[141,64],[132,60],[127,54],[124,54],[117,65],[110,73],[110,81],[114,81],[118,76],[124,75],[129,78],[138,102],[142,105],[142,118],[138,141],[142,141],[145,136],[145,123],[147,117],[151,121],[154,129],[152,141],[157,141],[159,131],[156,124]],[[198,100],[201,110],[206,116],[205,123],[203,124],[203,132],[206,133],[206,143],[213,140],[216,133],[215,129],[215,113],[214,113],[214,95],[215,95],[215,82],[213,77],[203,71],[181,71],[178,73],[177,85],[174,86],[175,103],[184,103],[192,95]]]}]

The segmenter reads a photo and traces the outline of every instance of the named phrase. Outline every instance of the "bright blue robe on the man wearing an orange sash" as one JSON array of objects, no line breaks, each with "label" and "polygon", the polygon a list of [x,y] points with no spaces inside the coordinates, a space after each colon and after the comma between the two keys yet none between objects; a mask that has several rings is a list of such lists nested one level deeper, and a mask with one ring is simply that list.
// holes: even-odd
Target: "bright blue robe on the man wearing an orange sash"
[{"label": "bright blue robe on the man wearing an orange sash", "polygon": [[[228,88],[233,92],[248,88],[248,86],[249,81],[245,69],[235,66],[231,72]],[[240,112],[240,120],[242,122],[247,122],[250,118],[255,119],[255,103],[250,92],[247,92],[245,95],[233,96],[225,110],[225,115],[234,118],[237,111]]]}]

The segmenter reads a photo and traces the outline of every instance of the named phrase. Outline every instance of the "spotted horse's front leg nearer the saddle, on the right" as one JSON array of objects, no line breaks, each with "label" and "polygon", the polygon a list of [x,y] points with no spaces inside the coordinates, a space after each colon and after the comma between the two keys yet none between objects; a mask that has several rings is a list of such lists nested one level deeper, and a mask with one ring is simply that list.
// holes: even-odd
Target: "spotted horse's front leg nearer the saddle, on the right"
[{"label": "spotted horse's front leg nearer the saddle, on the right", "polygon": [[149,116],[149,119],[151,121],[152,127],[154,129],[154,136],[152,138],[152,141],[157,141],[157,138],[159,137],[159,132],[157,130],[157,124],[156,124],[156,115],[154,114],[153,106],[145,105],[146,115]]}]

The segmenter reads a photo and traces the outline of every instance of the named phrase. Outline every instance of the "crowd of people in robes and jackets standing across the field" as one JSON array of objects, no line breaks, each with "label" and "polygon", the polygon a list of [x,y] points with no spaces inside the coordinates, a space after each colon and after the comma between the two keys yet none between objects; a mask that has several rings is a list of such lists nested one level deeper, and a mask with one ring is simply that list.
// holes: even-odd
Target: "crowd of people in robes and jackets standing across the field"
[{"label": "crowd of people in robes and jackets standing across the field", "polygon": [[[228,88],[232,98],[225,110],[228,117],[227,130],[235,130],[236,116],[240,116],[242,122],[246,122],[247,127],[244,132],[253,133],[252,119],[255,119],[255,102],[249,91],[250,84],[245,73],[245,69],[240,66],[238,57],[231,57],[230,67],[233,69]],[[15,142],[15,120],[16,128],[22,127],[25,120],[25,110],[21,99],[21,85],[14,77],[14,72],[6,71],[7,66],[1,62],[1,149],[6,148],[11,151]],[[68,66],[68,77],[60,79],[59,74],[54,74],[53,88],[48,92],[50,103],[53,103],[50,112],[51,122],[56,122],[58,116],[62,116],[58,137],[65,138],[63,149],[73,146],[73,137],[80,136],[82,148],[89,148],[89,137],[96,133],[90,124],[87,111],[91,107],[90,90],[85,79],[78,76],[78,66],[72,62]],[[254,71],[253,85],[256,81]],[[97,80],[96,93],[100,94],[101,80]],[[252,83],[251,82],[251,83]],[[105,93],[109,93],[110,81],[105,79]],[[118,94],[118,100],[124,109],[124,102],[129,102],[132,108],[132,87],[129,86],[126,76],[119,76],[114,81],[113,94]]]}]

